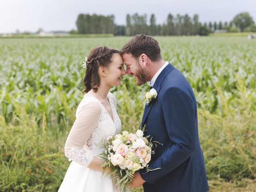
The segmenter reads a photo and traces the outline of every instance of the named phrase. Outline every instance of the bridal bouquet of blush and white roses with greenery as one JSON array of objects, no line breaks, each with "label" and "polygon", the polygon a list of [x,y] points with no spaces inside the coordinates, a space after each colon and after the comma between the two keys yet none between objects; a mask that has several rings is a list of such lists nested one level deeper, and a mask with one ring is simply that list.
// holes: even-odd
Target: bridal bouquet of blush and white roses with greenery
[{"label": "bridal bouquet of blush and white roses with greenery", "polygon": [[135,171],[148,167],[151,154],[155,153],[159,142],[152,142],[150,136],[143,137],[144,128],[137,130],[136,134],[123,131],[113,137],[108,137],[105,143],[104,171],[109,169],[108,175],[112,177],[115,186],[125,191],[127,184],[132,182]]}]

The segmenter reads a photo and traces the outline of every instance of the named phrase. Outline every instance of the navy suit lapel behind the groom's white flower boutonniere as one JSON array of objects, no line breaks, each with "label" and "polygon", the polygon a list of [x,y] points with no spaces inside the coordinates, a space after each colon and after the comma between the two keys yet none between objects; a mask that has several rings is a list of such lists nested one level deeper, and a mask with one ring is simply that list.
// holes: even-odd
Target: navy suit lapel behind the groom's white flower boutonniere
[{"label": "navy suit lapel behind the groom's white flower boutonniere", "polygon": [[[174,67],[172,66],[172,64],[168,64],[164,70],[162,70],[162,72],[159,74],[159,76],[156,78],[156,82],[154,83],[153,88],[156,90],[157,94],[161,88],[161,84],[162,81],[164,80],[164,78],[166,77],[167,74],[169,74],[172,70],[174,69]],[[146,118],[148,116],[148,113],[150,112],[152,106],[154,105],[154,102],[157,100],[157,96],[155,99],[151,100],[150,103],[148,104],[148,106],[145,106],[144,109],[144,113],[143,113],[143,118],[142,118],[142,124],[141,127],[144,126]]]}]

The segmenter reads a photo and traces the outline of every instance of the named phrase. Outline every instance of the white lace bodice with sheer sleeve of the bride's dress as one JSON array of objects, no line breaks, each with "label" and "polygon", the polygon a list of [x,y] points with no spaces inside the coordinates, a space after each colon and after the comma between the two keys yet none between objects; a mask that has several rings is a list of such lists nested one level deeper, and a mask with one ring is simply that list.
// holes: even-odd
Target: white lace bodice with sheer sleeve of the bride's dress
[{"label": "white lace bodice with sheer sleeve of the bride's dress", "polygon": [[104,139],[119,134],[121,121],[116,112],[115,97],[110,92],[108,100],[114,121],[96,97],[84,95],[65,144],[65,155],[69,160],[88,166],[93,158],[88,150],[103,152]]}]

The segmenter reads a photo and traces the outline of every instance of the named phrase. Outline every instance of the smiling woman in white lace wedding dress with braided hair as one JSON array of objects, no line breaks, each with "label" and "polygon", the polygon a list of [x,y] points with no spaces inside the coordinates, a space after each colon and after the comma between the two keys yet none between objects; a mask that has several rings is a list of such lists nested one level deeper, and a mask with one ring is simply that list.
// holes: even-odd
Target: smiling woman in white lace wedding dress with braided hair
[{"label": "smiling woman in white lace wedding dress with braided hair", "polygon": [[65,155],[72,160],[58,192],[114,192],[112,180],[102,175],[102,139],[118,134],[121,121],[111,86],[121,85],[126,74],[118,50],[94,48],[84,62],[84,98],[76,110],[76,120],[65,144]]}]

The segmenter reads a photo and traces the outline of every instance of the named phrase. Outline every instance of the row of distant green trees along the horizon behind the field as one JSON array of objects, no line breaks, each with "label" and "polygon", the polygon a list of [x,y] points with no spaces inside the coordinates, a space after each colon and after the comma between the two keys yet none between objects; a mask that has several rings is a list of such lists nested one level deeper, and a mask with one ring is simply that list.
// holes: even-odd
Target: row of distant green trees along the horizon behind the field
[{"label": "row of distant green trees along the horizon behind the field", "polygon": [[146,14],[127,14],[126,25],[114,24],[114,15],[79,14],[76,20],[78,34],[114,34],[115,36],[134,36],[136,34],[180,36],[208,35],[216,30],[224,32],[256,32],[255,23],[247,12],[237,14],[230,22],[201,23],[198,14],[191,18],[188,14],[173,16],[168,14],[166,22],[156,24],[154,14],[150,15],[149,24]]}]

